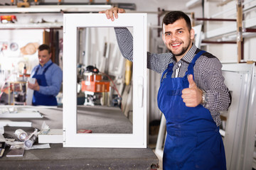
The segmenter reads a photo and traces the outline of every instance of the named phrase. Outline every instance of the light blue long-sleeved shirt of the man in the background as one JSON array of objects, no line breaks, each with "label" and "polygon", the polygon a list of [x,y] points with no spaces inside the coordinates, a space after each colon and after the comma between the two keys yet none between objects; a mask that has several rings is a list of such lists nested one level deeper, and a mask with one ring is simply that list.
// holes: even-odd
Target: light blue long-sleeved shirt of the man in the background
[{"label": "light blue long-sleeved shirt of the man in the background", "polygon": [[[46,62],[46,64],[44,64],[43,67],[41,66],[41,64],[38,64],[36,67],[32,69],[31,77],[33,77],[38,67],[39,69],[37,74],[43,74],[43,70],[50,63],[52,63],[52,60],[49,60],[48,62]],[[40,86],[40,90],[38,92],[45,95],[57,96],[58,92],[60,91],[61,83],[63,81],[62,70],[60,69],[60,67],[58,67],[57,64],[53,63],[46,71],[45,76],[46,76],[46,82],[48,86]]]}]

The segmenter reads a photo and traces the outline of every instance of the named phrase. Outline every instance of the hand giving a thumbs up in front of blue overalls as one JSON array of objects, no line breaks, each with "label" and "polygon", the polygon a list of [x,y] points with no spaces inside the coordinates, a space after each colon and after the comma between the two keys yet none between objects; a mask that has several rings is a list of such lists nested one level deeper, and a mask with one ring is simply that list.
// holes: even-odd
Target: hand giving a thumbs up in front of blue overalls
[{"label": "hand giving a thumbs up in front of blue overalls", "polygon": [[188,75],[189,87],[182,90],[181,98],[188,107],[196,107],[202,102],[203,91],[198,89],[195,81],[193,81],[193,75]]}]

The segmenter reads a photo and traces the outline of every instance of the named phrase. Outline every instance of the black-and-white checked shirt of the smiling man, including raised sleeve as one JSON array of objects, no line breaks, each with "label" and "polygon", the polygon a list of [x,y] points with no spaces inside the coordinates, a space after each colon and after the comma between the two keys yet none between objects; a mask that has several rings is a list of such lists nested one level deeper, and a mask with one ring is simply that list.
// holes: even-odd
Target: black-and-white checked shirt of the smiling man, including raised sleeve
[{"label": "black-and-white checked shirt of the smiling man, including raised sleeve", "polygon": [[[117,43],[122,55],[129,61],[133,59],[133,38],[127,28],[114,28]],[[147,67],[162,74],[170,63],[174,63],[172,77],[184,77],[188,69],[188,64],[200,50],[193,45],[190,50],[176,62],[174,55],[169,53],[153,54],[147,52]],[[196,60],[193,67],[194,79],[199,89],[206,91],[208,102],[204,105],[210,111],[216,125],[219,126],[220,111],[228,109],[231,103],[231,96],[228,87],[224,84],[224,77],[221,71],[222,64],[217,57],[209,52],[203,53]],[[166,78],[165,76],[163,78]]]}]

